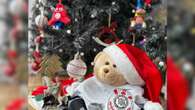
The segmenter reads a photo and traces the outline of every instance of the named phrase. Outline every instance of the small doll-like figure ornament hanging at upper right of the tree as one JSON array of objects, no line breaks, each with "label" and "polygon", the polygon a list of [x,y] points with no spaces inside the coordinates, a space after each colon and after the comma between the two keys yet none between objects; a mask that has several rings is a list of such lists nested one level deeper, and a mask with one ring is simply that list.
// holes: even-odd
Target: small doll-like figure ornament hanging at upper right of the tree
[{"label": "small doll-like figure ornament hanging at upper right of the tree", "polygon": [[133,20],[131,20],[131,26],[130,28],[133,28],[135,30],[142,30],[146,28],[146,23],[144,21],[144,16],[145,16],[145,10],[142,8],[139,8],[135,12],[135,17]]}]

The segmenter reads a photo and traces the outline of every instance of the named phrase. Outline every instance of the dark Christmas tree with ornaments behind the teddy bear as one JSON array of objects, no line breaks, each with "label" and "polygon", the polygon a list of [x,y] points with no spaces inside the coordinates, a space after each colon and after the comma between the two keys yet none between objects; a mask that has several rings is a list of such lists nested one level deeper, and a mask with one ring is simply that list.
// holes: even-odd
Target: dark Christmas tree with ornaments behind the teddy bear
[{"label": "dark Christmas tree with ornaments behind the teddy bear", "polygon": [[[138,8],[146,11],[140,12],[146,27],[132,29],[131,21],[135,19]],[[59,10],[64,14],[61,15],[63,19],[56,20]],[[95,55],[105,46],[127,43],[146,51],[165,76],[164,0],[152,0],[151,6],[139,0],[36,0],[31,13],[30,52],[37,50],[34,39],[42,35],[44,41],[39,44],[38,51],[58,55],[64,69],[77,52],[82,54],[90,69]]]}]

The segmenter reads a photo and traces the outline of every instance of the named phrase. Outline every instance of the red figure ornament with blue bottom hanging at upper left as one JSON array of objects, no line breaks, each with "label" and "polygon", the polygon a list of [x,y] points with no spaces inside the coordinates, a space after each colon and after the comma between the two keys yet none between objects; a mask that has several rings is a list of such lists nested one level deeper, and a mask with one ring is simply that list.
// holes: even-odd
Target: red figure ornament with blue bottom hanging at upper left
[{"label": "red figure ornament with blue bottom hanging at upper left", "polygon": [[52,18],[48,22],[49,26],[54,26],[57,29],[62,28],[63,25],[68,25],[71,22],[68,11],[61,2],[62,0],[59,0],[59,3],[56,5],[52,14]]}]

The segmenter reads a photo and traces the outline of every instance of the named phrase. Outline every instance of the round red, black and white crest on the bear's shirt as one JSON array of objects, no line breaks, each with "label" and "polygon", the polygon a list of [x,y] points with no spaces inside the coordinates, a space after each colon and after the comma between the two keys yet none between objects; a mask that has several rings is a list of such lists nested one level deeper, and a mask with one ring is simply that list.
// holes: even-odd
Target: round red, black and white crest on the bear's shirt
[{"label": "round red, black and white crest on the bear's shirt", "polygon": [[109,98],[108,110],[133,110],[133,99],[131,93],[126,89],[115,89]]}]

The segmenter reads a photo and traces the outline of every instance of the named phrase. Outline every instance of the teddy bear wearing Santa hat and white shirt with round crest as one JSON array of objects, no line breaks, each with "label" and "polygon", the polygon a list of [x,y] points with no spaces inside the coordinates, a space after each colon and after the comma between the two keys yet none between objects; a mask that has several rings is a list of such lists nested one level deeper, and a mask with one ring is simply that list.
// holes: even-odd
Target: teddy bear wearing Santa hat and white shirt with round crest
[{"label": "teddy bear wearing Santa hat and white shirt with round crest", "polygon": [[88,110],[163,110],[161,87],[161,74],[146,53],[118,44],[95,57],[94,76],[83,81],[75,94]]}]

